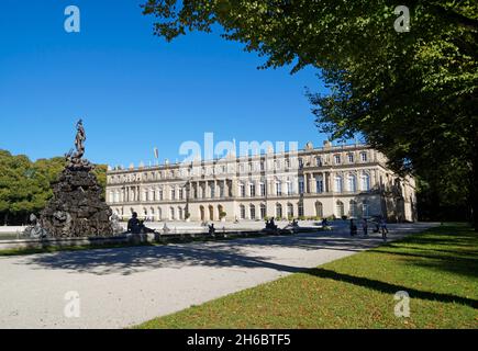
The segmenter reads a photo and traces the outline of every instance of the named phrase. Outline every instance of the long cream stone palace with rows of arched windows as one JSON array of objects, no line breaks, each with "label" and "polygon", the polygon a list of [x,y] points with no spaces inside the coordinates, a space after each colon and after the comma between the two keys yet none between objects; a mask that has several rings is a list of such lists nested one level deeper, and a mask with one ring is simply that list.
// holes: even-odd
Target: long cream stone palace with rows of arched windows
[{"label": "long cream stone palace with rows of arched windows", "polygon": [[107,202],[122,219],[262,220],[360,218],[414,222],[415,182],[366,145],[197,161],[108,172]]}]

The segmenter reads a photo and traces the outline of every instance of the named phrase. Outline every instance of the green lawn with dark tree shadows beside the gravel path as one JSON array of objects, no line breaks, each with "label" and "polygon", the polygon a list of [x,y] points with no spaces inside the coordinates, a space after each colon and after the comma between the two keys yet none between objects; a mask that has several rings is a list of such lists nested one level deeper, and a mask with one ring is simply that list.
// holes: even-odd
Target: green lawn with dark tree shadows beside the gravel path
[{"label": "green lawn with dark tree shadows beside the gravel path", "polygon": [[[394,316],[399,291],[411,317]],[[477,328],[478,235],[446,225],[138,328]]]}]

